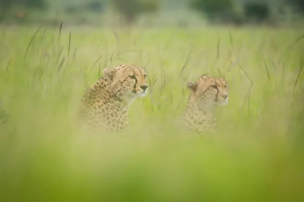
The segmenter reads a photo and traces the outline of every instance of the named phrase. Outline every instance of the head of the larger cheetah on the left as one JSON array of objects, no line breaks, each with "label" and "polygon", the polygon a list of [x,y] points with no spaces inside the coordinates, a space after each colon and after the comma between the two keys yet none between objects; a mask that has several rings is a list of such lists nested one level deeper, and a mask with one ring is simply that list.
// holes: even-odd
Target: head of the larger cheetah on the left
[{"label": "head of the larger cheetah on the left", "polygon": [[103,77],[111,83],[111,91],[126,103],[148,92],[147,73],[143,68],[133,65],[121,65],[103,70]]}]

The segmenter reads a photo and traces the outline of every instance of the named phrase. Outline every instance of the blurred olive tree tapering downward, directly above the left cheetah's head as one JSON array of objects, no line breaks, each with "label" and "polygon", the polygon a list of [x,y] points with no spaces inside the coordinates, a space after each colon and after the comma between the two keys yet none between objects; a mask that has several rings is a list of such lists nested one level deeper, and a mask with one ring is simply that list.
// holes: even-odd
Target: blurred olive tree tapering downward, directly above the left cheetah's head
[{"label": "blurred olive tree tapering downward, directly above the left cheetah's head", "polygon": [[142,13],[154,13],[159,8],[157,0],[111,0],[111,3],[126,24],[134,23]]}]

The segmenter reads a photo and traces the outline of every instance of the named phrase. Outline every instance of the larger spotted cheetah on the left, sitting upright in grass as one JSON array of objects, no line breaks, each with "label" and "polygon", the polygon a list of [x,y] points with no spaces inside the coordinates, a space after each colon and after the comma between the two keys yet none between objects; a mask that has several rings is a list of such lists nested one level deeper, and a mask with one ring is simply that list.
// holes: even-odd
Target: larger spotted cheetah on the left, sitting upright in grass
[{"label": "larger spotted cheetah on the left, sitting upright in grass", "polygon": [[90,132],[129,132],[128,109],[137,97],[148,92],[147,73],[124,64],[103,70],[103,76],[87,89],[77,117]]}]

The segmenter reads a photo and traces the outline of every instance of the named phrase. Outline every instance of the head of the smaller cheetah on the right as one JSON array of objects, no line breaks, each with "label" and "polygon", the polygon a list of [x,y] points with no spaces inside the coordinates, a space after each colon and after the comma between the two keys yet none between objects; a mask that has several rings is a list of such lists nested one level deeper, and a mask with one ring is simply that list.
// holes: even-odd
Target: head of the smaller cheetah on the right
[{"label": "head of the smaller cheetah on the right", "polygon": [[200,108],[212,108],[228,103],[228,83],[221,78],[203,75],[196,83],[188,82],[187,87]]}]

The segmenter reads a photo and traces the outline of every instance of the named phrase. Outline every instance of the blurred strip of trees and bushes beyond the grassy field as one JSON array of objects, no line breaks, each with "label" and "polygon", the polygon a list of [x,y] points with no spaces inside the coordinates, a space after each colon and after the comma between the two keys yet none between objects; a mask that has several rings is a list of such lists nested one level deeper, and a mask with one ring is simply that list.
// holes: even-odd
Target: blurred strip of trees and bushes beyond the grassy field
[{"label": "blurred strip of trees and bushes beyond the grassy field", "polygon": [[0,22],[55,26],[300,26],[301,0],[0,0]]}]

